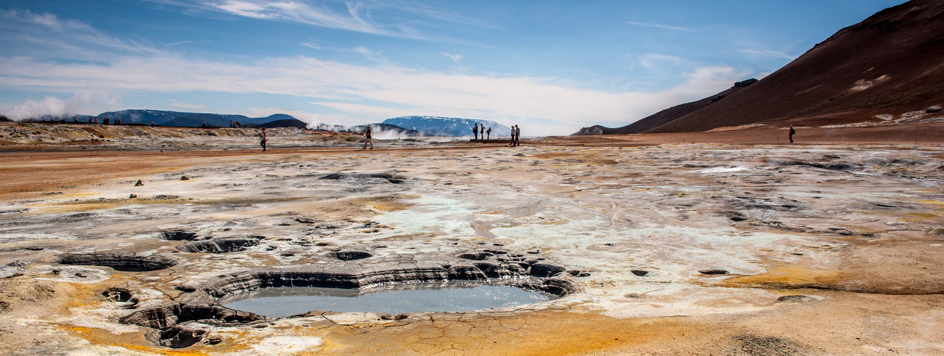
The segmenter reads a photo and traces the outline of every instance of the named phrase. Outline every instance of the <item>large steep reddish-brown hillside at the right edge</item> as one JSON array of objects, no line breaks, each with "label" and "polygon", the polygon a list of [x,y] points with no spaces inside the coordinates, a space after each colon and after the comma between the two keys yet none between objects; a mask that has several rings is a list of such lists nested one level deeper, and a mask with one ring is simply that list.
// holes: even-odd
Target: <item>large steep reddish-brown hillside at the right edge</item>
[{"label": "large steep reddish-brown hillside at the right edge", "polygon": [[944,1],[914,0],[843,28],[725,100],[647,133],[841,124],[944,104]]}]

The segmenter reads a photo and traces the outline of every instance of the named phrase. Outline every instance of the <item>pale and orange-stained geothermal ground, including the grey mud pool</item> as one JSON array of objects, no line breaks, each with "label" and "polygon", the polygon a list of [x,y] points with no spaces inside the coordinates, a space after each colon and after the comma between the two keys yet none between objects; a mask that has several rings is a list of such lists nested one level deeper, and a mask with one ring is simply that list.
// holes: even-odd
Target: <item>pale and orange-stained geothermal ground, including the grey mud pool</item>
[{"label": "pale and orange-stained geothermal ground, including the grey mud pool", "polygon": [[944,354],[938,146],[142,159],[5,162],[121,177],[0,202],[0,354]]}]

